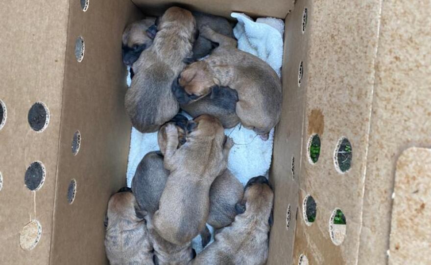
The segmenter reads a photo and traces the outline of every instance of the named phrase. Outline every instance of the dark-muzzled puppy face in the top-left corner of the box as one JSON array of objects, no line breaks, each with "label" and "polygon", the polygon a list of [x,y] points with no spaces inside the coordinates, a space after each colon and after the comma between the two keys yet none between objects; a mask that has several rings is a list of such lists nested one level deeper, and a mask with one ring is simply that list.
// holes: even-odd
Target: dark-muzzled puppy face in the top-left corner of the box
[{"label": "dark-muzzled puppy face in the top-left corner of the box", "polygon": [[147,17],[129,24],[123,32],[122,53],[126,66],[132,66],[141,52],[153,44],[157,33],[156,18]]}]

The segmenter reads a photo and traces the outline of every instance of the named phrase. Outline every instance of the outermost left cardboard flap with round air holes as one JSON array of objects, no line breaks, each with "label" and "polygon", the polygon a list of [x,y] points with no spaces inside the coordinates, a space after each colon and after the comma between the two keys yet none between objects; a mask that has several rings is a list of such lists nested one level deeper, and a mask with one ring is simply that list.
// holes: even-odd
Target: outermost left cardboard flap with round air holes
[{"label": "outermost left cardboard flap with round air holes", "polygon": [[[48,264],[54,203],[61,93],[64,75],[68,1],[1,1],[0,100],[7,119],[0,130],[0,264]],[[27,114],[36,102],[49,110],[48,127],[33,131]],[[27,167],[41,161],[43,186],[24,185]],[[31,219],[42,235],[31,251],[19,244],[20,231]]]}]

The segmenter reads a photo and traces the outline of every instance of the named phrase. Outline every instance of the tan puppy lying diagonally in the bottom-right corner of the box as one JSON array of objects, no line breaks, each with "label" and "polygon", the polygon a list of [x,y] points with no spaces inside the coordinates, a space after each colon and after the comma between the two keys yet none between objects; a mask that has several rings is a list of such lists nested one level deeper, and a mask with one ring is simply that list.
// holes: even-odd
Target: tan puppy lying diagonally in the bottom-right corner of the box
[{"label": "tan puppy lying diagonally in the bottom-right corner of the box", "polygon": [[215,242],[199,253],[192,265],[265,264],[273,198],[265,177],[251,178],[237,204],[235,221],[216,233]]}]

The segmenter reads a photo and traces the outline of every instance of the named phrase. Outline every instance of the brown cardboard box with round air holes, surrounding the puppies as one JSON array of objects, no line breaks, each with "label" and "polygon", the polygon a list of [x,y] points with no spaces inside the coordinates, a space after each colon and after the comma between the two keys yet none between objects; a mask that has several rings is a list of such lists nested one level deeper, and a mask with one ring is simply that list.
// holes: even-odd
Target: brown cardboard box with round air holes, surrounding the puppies
[{"label": "brown cardboard box with round air holes, surrounding the puppies", "polygon": [[[305,265],[302,255],[309,264],[431,263],[431,248],[423,244],[431,242],[431,229],[414,221],[431,218],[431,3],[177,3],[225,17],[239,11],[285,19],[267,264]],[[109,196],[125,185],[131,126],[123,103],[121,34],[143,14],[160,15],[172,4],[0,4],[0,264],[107,263],[103,218]],[[27,115],[38,102],[49,115],[35,132]],[[321,140],[316,163],[309,159],[314,134]],[[335,155],[343,138],[353,150],[345,173],[336,168]],[[44,182],[29,191],[23,180],[36,161],[43,165]],[[310,226],[303,214],[307,195],[317,205]],[[347,222],[340,245],[330,235],[336,209]],[[27,235],[37,239],[35,246],[25,242],[28,223],[36,228]]]}]

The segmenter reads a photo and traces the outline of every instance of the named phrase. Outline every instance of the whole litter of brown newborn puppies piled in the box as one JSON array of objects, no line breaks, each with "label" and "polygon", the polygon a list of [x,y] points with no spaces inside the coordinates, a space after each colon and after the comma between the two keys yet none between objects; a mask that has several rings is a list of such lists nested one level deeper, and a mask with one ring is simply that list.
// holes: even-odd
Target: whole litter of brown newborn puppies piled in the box
[{"label": "whole litter of brown newborn puppies piled in the box", "polygon": [[[126,112],[140,132],[158,131],[159,151],[142,158],[131,190],[109,200],[108,260],[264,264],[274,194],[266,177],[243,187],[227,169],[235,143],[224,129],[241,123],[267,139],[281,113],[277,73],[237,48],[231,22],[180,7],[128,25],[122,44],[133,73]],[[196,255],[197,235],[205,248]]]}]

